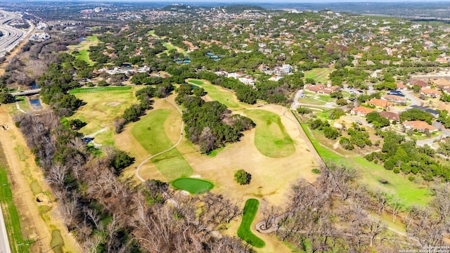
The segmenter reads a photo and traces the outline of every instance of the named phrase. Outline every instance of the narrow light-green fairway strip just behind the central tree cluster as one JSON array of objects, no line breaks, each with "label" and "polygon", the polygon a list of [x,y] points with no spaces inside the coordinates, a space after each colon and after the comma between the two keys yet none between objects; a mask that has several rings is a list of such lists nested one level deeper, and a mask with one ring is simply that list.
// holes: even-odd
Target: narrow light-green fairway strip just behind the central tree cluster
[{"label": "narrow light-green fairway strip just behind the central tree cluster", "polygon": [[213,100],[223,103],[227,108],[237,109],[243,107],[232,91],[221,90],[219,86],[214,86],[210,82],[203,80],[187,79],[186,81],[191,84],[201,86],[207,92],[207,96],[210,96]]}]

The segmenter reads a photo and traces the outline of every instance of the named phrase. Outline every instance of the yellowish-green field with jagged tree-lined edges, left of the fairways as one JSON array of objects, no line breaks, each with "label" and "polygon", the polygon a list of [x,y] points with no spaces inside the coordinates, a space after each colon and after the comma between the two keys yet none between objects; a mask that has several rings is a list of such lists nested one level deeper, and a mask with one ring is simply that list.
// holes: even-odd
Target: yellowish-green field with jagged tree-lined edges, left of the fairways
[{"label": "yellowish-green field with jagged tree-lined edges, left of the fairways", "polygon": [[138,87],[98,87],[72,89],[70,93],[86,102],[68,119],[81,119],[86,126],[80,129],[84,135],[94,134],[103,128],[108,128],[95,136],[94,141],[100,144],[113,145],[114,120],[122,116],[125,109],[138,103],[134,92]]}]

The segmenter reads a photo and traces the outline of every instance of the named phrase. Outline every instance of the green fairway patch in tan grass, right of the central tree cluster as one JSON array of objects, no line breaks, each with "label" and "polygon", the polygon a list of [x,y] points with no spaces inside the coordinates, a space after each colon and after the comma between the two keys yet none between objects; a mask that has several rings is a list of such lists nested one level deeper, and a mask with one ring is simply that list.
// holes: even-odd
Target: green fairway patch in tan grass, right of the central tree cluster
[{"label": "green fairway patch in tan grass, right of the central tree cluster", "polygon": [[288,157],[295,152],[295,145],[290,138],[280,116],[265,110],[244,110],[256,124],[255,146],[267,157]]}]

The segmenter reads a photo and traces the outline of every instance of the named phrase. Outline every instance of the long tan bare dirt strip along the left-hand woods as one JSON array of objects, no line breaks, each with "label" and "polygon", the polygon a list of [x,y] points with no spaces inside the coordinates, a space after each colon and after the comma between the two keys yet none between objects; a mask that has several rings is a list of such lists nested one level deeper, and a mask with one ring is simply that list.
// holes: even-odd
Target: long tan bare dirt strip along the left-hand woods
[{"label": "long tan bare dirt strip along the left-hand woods", "polygon": [[[51,207],[49,212],[43,214],[46,221],[41,218],[31,181],[37,181],[42,191],[50,192],[50,189],[44,183],[44,175],[41,169],[36,167],[25,139],[15,127],[4,106],[0,106],[0,124],[8,126],[6,130],[0,129],[0,144],[8,161],[8,180],[11,182],[14,202],[20,215],[23,237],[34,241],[30,252],[46,252],[51,249],[51,232],[55,229],[60,230],[63,236],[66,245],[64,249],[68,249],[65,252],[81,252],[77,242],[65,228],[53,203],[49,204]],[[21,149],[20,155],[16,152],[17,148]]]}]

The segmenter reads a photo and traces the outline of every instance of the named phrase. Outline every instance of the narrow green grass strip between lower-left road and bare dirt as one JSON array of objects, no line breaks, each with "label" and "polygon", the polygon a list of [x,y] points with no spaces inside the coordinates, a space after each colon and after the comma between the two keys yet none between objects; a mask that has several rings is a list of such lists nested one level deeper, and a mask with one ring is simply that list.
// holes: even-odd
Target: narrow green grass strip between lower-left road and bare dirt
[{"label": "narrow green grass strip between lower-left road and bare dirt", "polygon": [[6,157],[0,145],[0,204],[3,212],[9,245],[14,253],[30,252],[30,242],[25,240],[20,230],[20,217],[13,202],[13,193],[9,188]]}]

